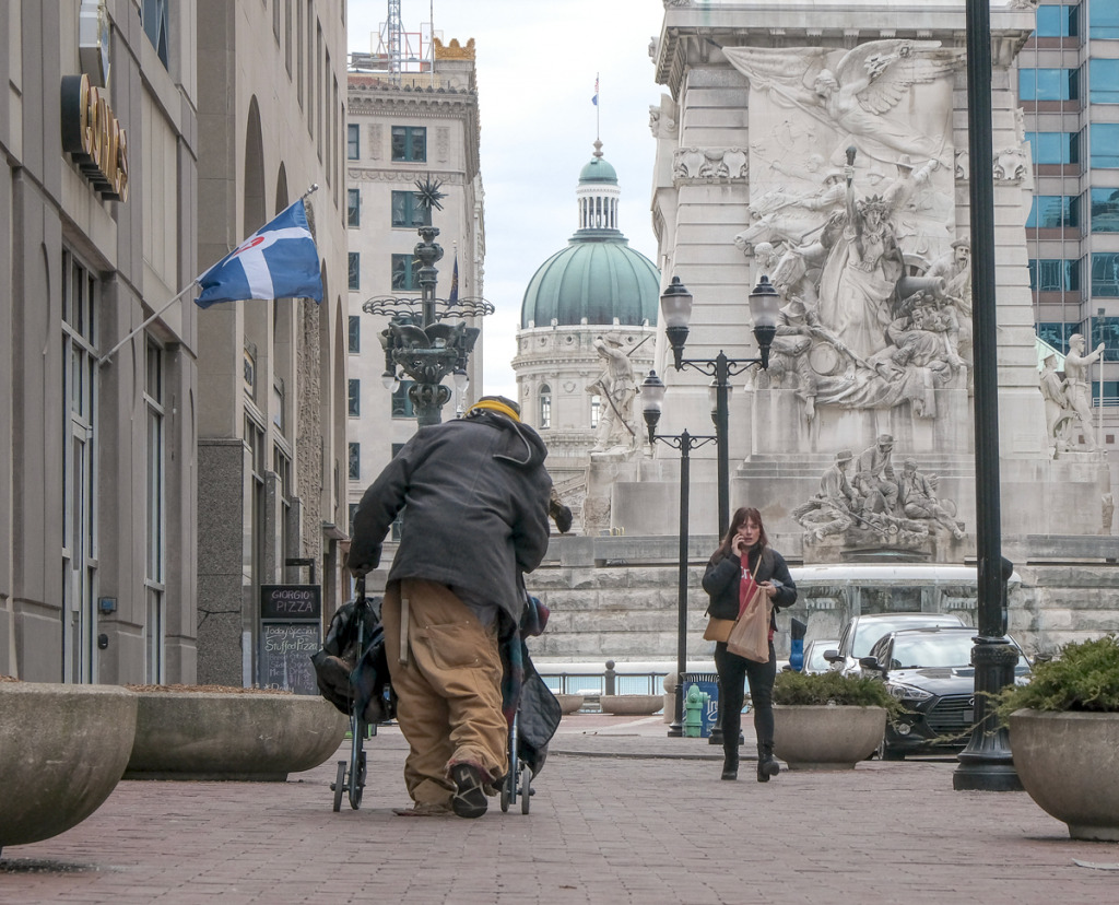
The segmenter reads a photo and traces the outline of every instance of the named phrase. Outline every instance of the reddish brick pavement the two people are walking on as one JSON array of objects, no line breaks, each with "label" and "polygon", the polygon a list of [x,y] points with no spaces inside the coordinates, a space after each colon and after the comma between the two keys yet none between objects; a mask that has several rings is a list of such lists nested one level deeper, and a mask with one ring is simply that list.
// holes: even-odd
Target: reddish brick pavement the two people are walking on
[{"label": "reddish brick pavement the two people are walking on", "polygon": [[[749,720],[746,720],[749,723]],[[532,813],[406,819],[404,742],[370,741],[359,811],[335,760],[280,783],[122,782],[90,819],[11,846],[0,903],[1116,903],[1119,846],[1075,842],[1025,793],[952,791],[952,762],[749,769],[657,719],[566,717]],[[345,752],[339,757],[345,757]]]}]

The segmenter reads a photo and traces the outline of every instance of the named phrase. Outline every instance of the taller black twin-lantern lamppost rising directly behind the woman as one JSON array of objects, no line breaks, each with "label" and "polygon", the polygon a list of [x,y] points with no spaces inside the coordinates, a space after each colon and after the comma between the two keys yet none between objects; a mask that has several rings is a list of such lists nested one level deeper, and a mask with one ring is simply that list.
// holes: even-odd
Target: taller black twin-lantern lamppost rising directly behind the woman
[{"label": "taller black twin-lantern lamppost rising directly behind the woman", "polygon": [[[754,286],[754,291],[750,293],[750,317],[754,323],[758,358],[727,358],[722,349],[714,359],[685,358],[684,345],[688,338],[692,301],[692,293],[687,291],[678,276],[674,276],[660,295],[660,311],[665,320],[665,334],[673,347],[673,366],[676,370],[692,368],[715,378],[713,388],[715,392],[714,418],[718,459],[718,536],[722,539],[731,524],[731,465],[727,435],[731,378],[754,365],[762,369],[769,368],[770,346],[777,334],[781,296],[770,284],[769,277],[764,275]],[[677,695],[677,699],[679,699],[679,695]],[[723,730],[721,727],[716,726],[712,730],[709,742],[713,745],[722,744]]]}]

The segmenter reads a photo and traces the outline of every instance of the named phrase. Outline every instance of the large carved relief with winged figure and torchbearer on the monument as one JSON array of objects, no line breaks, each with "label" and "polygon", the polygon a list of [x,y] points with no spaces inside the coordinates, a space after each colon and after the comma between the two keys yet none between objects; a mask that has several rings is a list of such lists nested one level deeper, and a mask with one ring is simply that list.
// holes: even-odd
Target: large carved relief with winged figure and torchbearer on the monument
[{"label": "large carved relief with winged figure and torchbearer on the monument", "polygon": [[934,418],[935,390],[970,381],[969,256],[953,245],[961,53],[900,39],[724,53],[750,81],[750,133],[764,136],[749,149],[751,221],[734,242],[762,249],[756,275],[784,300],[758,388],[794,386],[808,419],[903,404]]}]

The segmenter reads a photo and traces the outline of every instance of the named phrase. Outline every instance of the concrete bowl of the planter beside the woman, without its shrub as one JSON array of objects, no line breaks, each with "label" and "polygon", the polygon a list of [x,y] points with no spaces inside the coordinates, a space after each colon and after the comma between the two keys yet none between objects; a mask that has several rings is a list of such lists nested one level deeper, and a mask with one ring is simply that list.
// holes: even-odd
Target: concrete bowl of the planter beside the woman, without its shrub
[{"label": "concrete bowl of the planter beside the woman, without its shrub", "polygon": [[886,730],[882,707],[773,708],[773,754],[790,770],[852,770],[871,756]]}]

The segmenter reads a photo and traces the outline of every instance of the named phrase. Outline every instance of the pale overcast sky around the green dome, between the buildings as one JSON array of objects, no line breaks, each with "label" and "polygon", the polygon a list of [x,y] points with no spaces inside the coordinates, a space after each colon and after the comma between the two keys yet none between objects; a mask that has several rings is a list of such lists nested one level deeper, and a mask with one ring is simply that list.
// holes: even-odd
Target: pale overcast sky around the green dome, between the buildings
[{"label": "pale overcast sky around the green dome, between the buildings", "polygon": [[[349,49],[376,49],[387,0],[349,0]],[[650,225],[653,81],[661,0],[402,0],[404,30],[434,21],[444,44],[474,39],[486,190],[486,392],[516,398],[509,362],[525,287],[577,226],[579,171],[602,140],[618,171],[620,227],[656,263]],[[599,106],[591,103],[599,77]],[[595,119],[598,114],[598,121]],[[436,220],[436,225],[438,220]],[[445,236],[443,238],[446,238]],[[444,258],[445,262],[445,258]],[[450,273],[440,274],[440,284]],[[440,294],[445,294],[441,292]]]}]

